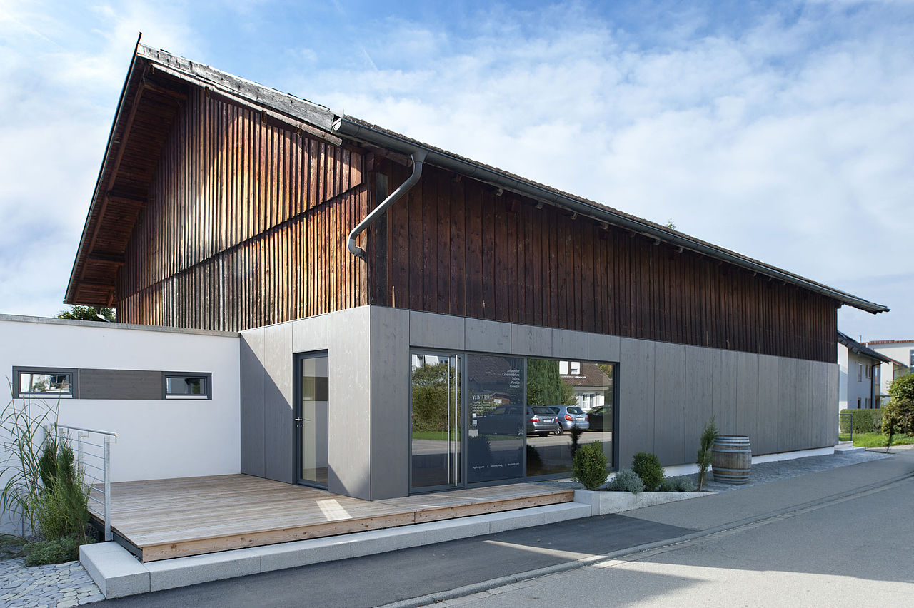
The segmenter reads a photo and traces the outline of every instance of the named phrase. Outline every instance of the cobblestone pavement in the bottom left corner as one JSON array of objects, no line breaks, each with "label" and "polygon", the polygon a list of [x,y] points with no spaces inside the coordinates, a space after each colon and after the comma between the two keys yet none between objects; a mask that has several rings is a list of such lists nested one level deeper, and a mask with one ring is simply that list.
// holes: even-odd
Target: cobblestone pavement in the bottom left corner
[{"label": "cobblestone pavement in the bottom left corner", "polygon": [[70,608],[103,599],[79,561],[33,567],[22,558],[0,561],[0,606]]}]

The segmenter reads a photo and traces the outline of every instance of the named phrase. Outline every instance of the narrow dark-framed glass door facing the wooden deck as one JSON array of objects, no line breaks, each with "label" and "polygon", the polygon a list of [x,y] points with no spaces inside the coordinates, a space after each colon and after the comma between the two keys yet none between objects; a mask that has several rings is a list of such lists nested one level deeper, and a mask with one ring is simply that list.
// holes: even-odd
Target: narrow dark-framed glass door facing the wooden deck
[{"label": "narrow dark-framed glass door facing the wooden deck", "polygon": [[294,369],[298,483],[326,488],[329,414],[327,355],[295,355]]}]

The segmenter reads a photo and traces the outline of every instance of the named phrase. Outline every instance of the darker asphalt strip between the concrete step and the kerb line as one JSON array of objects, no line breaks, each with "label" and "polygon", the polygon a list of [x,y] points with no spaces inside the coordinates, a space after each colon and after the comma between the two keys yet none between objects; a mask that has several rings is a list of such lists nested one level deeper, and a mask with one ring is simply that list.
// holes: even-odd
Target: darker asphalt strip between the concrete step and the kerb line
[{"label": "darker asphalt strip between the concrete step and the kerb line", "polygon": [[[622,515],[573,519],[146,593],[105,606],[377,606],[692,532]],[[99,605],[99,604],[95,604]]]}]

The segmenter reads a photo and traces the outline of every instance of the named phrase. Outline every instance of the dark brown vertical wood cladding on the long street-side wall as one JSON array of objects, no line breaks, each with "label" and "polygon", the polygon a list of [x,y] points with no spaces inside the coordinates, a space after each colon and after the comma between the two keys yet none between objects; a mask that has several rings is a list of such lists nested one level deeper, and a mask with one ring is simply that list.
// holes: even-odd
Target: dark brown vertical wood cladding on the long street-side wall
[{"label": "dark brown vertical wood cladding on the long street-side wall", "polygon": [[834,362],[832,299],[434,167],[386,232],[376,304]]}]

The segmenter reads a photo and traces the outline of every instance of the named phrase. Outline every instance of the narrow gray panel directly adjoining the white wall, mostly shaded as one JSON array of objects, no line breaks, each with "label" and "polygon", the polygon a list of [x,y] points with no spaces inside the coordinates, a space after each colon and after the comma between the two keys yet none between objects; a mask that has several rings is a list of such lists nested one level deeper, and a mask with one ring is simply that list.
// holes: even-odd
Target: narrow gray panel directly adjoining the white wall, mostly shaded
[{"label": "narrow gray panel directly adjoining the white wall, mostly shaded", "polygon": [[266,371],[263,358],[263,330],[241,333],[239,344],[239,389],[241,423],[241,472],[264,477],[263,387]]}]

